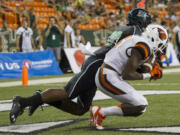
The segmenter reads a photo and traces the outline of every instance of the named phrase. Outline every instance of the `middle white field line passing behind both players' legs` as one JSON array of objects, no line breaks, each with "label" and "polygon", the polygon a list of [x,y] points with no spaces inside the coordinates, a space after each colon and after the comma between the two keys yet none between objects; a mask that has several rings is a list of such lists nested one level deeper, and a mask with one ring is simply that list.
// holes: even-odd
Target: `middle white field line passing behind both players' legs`
[{"label": "middle white field line passing behind both players' legs", "polygon": [[[141,93],[142,95],[158,95],[158,94],[180,94],[180,90],[179,91],[157,91],[157,90],[151,90],[151,91],[138,91],[139,93]],[[101,91],[97,91],[96,95],[93,99],[93,101],[97,101],[97,100],[107,100],[107,99],[111,99],[111,97],[105,95],[104,93],[102,93]],[[76,99],[74,99],[74,101],[76,101]],[[0,112],[4,112],[4,111],[9,111],[11,109],[12,106],[12,100],[2,100],[0,101]],[[45,106],[47,106],[47,104],[45,104]]]}]

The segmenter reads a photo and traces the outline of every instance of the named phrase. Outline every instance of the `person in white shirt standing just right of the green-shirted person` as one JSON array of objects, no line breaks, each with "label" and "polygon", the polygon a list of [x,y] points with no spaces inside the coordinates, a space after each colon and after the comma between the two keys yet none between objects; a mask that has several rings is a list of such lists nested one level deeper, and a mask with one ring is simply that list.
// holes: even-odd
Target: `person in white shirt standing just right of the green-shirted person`
[{"label": "person in white shirt standing just right of the green-shirted person", "polygon": [[65,48],[73,48],[75,46],[75,33],[73,29],[73,25],[75,20],[69,20],[69,23],[64,29],[64,47]]}]

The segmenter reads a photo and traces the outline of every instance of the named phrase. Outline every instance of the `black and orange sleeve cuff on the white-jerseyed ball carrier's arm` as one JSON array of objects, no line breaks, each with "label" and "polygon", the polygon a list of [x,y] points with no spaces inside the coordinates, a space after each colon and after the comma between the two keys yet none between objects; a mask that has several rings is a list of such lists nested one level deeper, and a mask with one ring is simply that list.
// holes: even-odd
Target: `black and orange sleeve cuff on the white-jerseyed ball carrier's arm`
[{"label": "black and orange sleeve cuff on the white-jerseyed ball carrier's arm", "polygon": [[134,48],[140,52],[143,59],[146,59],[151,54],[149,46],[144,42],[138,42]]}]

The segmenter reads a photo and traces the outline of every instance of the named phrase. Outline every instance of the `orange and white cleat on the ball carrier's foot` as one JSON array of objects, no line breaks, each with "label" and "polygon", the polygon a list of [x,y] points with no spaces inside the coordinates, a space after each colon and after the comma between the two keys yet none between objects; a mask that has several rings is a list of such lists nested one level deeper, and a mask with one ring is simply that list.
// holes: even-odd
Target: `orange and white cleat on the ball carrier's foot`
[{"label": "orange and white cleat on the ball carrier's foot", "polygon": [[104,129],[102,126],[102,121],[105,119],[105,116],[103,116],[99,111],[101,107],[99,106],[91,106],[90,107],[90,126],[95,127],[98,130]]}]

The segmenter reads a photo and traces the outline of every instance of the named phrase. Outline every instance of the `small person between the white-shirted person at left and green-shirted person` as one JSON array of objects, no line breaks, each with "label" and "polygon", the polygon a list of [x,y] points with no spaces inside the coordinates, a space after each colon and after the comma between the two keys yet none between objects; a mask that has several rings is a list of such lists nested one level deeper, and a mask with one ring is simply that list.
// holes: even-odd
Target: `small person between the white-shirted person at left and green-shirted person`
[{"label": "small person between the white-shirted person at left and green-shirted person", "polygon": [[41,30],[37,30],[37,37],[35,38],[35,46],[37,50],[43,51],[43,36]]}]

